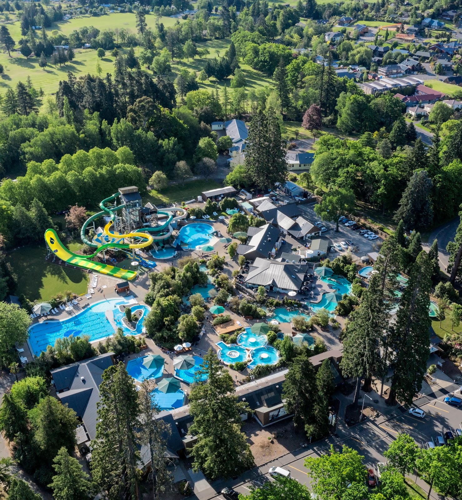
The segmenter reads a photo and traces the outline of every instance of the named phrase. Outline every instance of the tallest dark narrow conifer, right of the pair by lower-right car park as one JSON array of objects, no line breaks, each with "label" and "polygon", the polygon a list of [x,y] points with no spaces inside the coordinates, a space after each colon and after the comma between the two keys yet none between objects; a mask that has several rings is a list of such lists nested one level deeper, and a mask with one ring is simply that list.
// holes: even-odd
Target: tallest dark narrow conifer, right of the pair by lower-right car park
[{"label": "tallest dark narrow conifer, right of the pair by lower-right car park", "polygon": [[431,272],[432,262],[422,250],[412,265],[388,344],[393,370],[388,404],[394,404],[396,400],[411,404],[422,386],[430,344]]}]

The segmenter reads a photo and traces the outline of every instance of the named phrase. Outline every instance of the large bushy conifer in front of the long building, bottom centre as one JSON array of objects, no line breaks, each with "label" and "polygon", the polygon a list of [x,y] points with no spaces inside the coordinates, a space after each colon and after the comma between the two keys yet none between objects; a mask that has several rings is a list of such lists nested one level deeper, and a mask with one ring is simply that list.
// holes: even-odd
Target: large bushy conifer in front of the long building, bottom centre
[{"label": "large bushy conifer in front of the long building, bottom centre", "polygon": [[[206,382],[199,381],[202,375],[208,376]],[[253,464],[250,447],[240,430],[240,415],[248,407],[237,401],[231,375],[212,349],[204,355],[195,376],[189,394],[189,412],[194,418],[189,431],[197,436],[192,447],[193,470],[200,469],[211,479],[238,475]]]}]

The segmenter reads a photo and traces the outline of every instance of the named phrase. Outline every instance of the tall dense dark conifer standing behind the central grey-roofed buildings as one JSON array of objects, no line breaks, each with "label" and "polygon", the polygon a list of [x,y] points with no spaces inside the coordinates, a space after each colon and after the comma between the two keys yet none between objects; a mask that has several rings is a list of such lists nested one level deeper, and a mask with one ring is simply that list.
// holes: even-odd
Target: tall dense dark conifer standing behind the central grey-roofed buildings
[{"label": "tall dense dark conifer standing behind the central grey-roofed buildings", "polygon": [[285,144],[274,113],[265,115],[259,110],[250,122],[248,144],[245,148],[245,166],[260,189],[283,184],[287,176]]}]

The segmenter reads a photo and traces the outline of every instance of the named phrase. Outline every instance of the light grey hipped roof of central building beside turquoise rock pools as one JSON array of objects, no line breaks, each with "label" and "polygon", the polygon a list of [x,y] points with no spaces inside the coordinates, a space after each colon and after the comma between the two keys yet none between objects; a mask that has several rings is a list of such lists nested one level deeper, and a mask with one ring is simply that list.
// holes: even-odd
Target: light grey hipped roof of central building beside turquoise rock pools
[{"label": "light grey hipped roof of central building beside turquoise rock pools", "polygon": [[307,267],[306,264],[256,258],[248,270],[245,283],[264,286],[270,291],[298,291],[303,283]]}]

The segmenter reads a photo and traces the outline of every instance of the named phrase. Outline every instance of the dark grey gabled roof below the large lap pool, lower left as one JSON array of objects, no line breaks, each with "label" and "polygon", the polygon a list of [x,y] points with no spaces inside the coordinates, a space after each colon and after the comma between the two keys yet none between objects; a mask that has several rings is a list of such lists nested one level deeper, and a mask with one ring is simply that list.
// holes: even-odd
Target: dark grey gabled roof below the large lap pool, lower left
[{"label": "dark grey gabled roof below the large lap pool, lower left", "polygon": [[57,397],[79,417],[90,439],[96,437],[96,403],[102,372],[113,363],[113,352],[50,370]]}]

